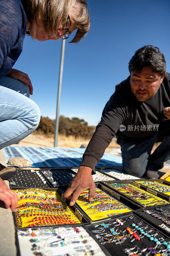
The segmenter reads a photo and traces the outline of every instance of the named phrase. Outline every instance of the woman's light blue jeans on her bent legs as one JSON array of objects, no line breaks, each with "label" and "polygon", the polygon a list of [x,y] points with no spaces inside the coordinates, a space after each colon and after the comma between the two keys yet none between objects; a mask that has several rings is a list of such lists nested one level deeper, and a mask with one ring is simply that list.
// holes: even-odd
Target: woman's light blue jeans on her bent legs
[{"label": "woman's light blue jeans on her bent legs", "polygon": [[0,79],[0,149],[24,139],[38,126],[40,110],[29,96],[23,82],[7,76]]}]

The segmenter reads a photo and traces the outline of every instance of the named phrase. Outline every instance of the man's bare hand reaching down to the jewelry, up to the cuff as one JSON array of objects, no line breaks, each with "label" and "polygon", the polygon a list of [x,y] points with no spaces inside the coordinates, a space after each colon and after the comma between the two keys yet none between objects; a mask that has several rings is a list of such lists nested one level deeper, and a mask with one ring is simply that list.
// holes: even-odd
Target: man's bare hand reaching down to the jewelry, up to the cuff
[{"label": "man's bare hand reaching down to the jewelry, up to the cuff", "polygon": [[70,206],[75,204],[75,201],[80,196],[80,194],[89,190],[89,201],[95,196],[95,183],[91,177],[92,169],[87,166],[80,166],[77,174],[74,176],[73,180],[70,182],[64,197],[70,200]]}]

